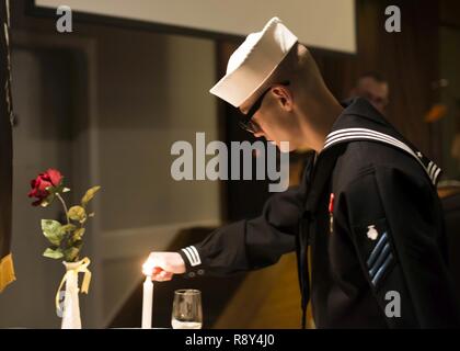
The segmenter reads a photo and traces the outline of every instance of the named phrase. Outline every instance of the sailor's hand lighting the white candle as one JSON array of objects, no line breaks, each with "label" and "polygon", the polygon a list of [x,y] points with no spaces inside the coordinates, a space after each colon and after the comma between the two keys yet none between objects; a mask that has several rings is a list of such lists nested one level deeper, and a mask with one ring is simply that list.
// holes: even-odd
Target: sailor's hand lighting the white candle
[{"label": "sailor's hand lighting the white candle", "polygon": [[151,275],[152,281],[170,281],[174,274],[185,273],[185,262],[177,252],[151,252],[143,263],[143,273]]}]

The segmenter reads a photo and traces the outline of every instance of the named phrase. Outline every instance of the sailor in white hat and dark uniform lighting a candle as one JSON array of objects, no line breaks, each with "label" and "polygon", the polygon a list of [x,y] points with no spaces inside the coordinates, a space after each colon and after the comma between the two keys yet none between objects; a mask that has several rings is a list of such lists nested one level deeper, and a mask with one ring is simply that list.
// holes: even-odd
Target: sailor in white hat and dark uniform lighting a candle
[{"label": "sailor in white hat and dark uniform lighting a candle", "polygon": [[338,103],[277,18],[246,37],[210,92],[240,109],[255,136],[314,154],[301,185],[273,195],[260,217],[152,252],[153,280],[261,269],[297,251],[303,315],[311,301],[318,328],[460,326],[440,169],[379,111],[363,98]]}]

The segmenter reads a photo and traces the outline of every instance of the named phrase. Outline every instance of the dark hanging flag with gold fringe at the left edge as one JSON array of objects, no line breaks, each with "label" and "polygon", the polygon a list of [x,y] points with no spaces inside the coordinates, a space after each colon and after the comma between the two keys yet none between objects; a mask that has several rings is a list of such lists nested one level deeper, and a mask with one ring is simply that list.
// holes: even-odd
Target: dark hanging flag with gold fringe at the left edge
[{"label": "dark hanging flag with gold fringe at the left edge", "polygon": [[15,280],[11,254],[13,109],[10,65],[10,5],[0,0],[0,292]]}]

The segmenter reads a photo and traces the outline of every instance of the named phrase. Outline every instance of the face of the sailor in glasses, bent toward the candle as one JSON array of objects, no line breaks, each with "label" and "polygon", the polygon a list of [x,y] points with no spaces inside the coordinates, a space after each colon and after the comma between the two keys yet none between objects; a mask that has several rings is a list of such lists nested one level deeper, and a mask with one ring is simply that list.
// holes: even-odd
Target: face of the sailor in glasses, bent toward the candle
[{"label": "face of the sailor in glasses, bent toward the candle", "polygon": [[[260,107],[254,112],[251,118],[251,133],[255,137],[264,137],[266,140],[276,144],[284,152],[292,151],[298,147],[300,137],[299,126],[292,115],[292,105],[288,93],[288,87],[274,84],[260,101]],[[289,93],[288,93],[289,94]],[[254,105],[243,104],[240,111],[248,114]],[[289,147],[281,146],[281,141],[289,141]]]}]

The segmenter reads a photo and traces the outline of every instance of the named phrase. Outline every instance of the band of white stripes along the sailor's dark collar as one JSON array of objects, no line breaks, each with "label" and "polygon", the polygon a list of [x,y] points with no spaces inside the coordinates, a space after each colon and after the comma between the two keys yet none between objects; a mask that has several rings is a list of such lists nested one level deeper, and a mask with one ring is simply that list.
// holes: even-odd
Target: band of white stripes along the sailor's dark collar
[{"label": "band of white stripes along the sailor's dark collar", "polygon": [[436,180],[440,173],[440,168],[438,168],[433,161],[430,161],[428,163],[428,167],[426,167],[412,148],[410,148],[407,145],[405,145],[401,140],[380,132],[376,132],[376,131],[367,129],[367,128],[338,129],[327,135],[323,150],[340,141],[355,139],[355,138],[364,138],[364,139],[382,141],[382,143],[390,144],[392,146],[395,146],[409,152],[418,161],[418,163],[421,163],[421,166],[424,168],[427,176],[432,180],[433,184],[436,185]]}]

